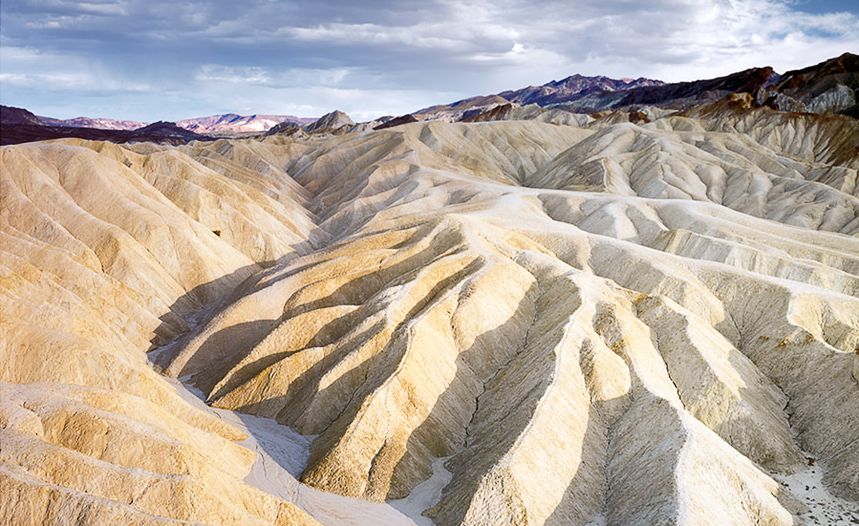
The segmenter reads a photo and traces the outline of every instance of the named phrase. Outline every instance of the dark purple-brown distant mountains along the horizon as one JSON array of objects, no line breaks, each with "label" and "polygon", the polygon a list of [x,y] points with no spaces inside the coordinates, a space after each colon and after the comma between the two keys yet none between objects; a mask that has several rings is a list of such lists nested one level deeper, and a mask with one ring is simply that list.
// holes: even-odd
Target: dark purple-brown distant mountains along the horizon
[{"label": "dark purple-brown distant mountains along the horizon", "polygon": [[[539,86],[528,86],[517,90],[502,91],[493,95],[482,95],[462,99],[453,103],[438,104],[408,115],[386,116],[375,121],[355,125],[360,129],[391,127],[412,121],[446,120],[475,121],[517,118],[538,118],[542,115],[547,122],[568,121],[572,117],[561,112],[578,114],[599,114],[624,110],[632,113],[653,112],[653,109],[682,111],[696,105],[719,100],[729,94],[750,93],[754,104],[769,106],[783,111],[842,113],[859,116],[856,92],[859,91],[859,56],[844,53],[839,57],[826,60],[814,66],[788,71],[782,75],[771,67],[752,68],[713,79],[689,82],[665,83],[660,80],[612,79],[605,76],[571,75],[562,80],[553,80]],[[639,110],[644,109],[642,113]],[[26,110],[23,110],[26,111]],[[86,138],[104,137],[118,141],[129,139],[128,134],[107,134],[90,130],[133,131],[145,123],[105,118],[76,117],[74,119],[54,119],[33,115],[12,116],[13,109],[3,108],[3,124],[6,127],[3,144],[21,140],[39,140],[51,137],[78,136]],[[342,114],[334,112],[328,118]],[[345,114],[342,114],[345,115]],[[346,116],[348,119],[348,116]],[[642,117],[644,118],[644,117]],[[576,118],[579,119],[580,118]],[[171,134],[171,140],[184,136],[186,140],[200,139],[203,136],[253,135],[260,133],[294,132],[306,129],[308,132],[319,129],[340,128],[328,126],[325,122],[315,126],[317,119],[293,115],[239,115],[225,113],[208,117],[197,117],[177,121],[175,125],[194,134]],[[30,126],[21,131],[11,126]],[[69,128],[68,130],[42,130],[32,127]],[[309,126],[309,128],[308,128]],[[356,128],[356,129],[357,129]],[[343,129],[351,129],[345,127]],[[151,136],[155,139],[155,136]]]}]

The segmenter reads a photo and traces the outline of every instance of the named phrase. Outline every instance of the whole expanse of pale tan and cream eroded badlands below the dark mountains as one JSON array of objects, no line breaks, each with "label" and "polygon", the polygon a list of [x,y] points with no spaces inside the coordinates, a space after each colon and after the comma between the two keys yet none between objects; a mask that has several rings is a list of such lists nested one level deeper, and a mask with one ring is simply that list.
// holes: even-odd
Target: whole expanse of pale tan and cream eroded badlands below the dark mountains
[{"label": "whole expanse of pale tan and cream eroded badlands below the dark mountains", "polygon": [[4,146],[0,520],[859,523],[859,123],[654,113]]}]

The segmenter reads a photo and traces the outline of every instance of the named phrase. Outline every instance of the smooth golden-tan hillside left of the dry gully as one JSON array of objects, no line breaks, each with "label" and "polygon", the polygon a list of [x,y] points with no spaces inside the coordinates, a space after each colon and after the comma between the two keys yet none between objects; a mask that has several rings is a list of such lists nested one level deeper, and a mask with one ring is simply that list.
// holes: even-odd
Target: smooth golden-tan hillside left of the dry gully
[{"label": "smooth golden-tan hillside left of the dry gully", "polygon": [[[79,144],[2,149],[2,521],[313,523],[242,482],[242,433],[182,401],[145,354],[294,254],[306,232],[272,215],[300,228],[306,210],[174,151]],[[231,237],[247,215],[276,228]]]}]

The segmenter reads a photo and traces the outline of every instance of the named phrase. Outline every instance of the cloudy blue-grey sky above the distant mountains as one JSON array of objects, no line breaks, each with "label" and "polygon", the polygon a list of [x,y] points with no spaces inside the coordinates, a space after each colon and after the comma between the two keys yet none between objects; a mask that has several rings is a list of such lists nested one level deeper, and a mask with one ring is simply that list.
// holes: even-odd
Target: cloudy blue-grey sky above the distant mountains
[{"label": "cloudy blue-grey sky above the distant mountains", "polygon": [[0,103],[369,120],[574,73],[695,80],[846,51],[859,0],[3,0]]}]

